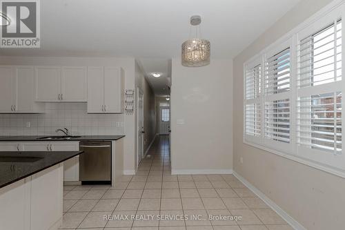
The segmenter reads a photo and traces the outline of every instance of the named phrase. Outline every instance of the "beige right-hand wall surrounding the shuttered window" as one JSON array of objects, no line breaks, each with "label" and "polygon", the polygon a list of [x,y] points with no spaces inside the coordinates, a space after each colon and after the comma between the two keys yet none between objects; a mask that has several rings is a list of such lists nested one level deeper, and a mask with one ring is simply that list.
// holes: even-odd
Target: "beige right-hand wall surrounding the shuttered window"
[{"label": "beige right-hand wall surrounding the shuttered window", "polygon": [[344,229],[345,179],[243,144],[243,64],[329,2],[301,1],[234,59],[234,171],[313,230]]}]

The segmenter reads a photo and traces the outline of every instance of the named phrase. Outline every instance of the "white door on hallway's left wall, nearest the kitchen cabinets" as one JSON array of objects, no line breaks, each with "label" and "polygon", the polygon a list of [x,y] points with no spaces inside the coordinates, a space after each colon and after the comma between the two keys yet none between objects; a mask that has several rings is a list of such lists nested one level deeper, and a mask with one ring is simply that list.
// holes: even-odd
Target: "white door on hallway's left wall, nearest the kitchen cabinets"
[{"label": "white door on hallway's left wall, nearest the kitchen cabinets", "polygon": [[144,93],[137,90],[138,95],[138,165],[144,157]]}]

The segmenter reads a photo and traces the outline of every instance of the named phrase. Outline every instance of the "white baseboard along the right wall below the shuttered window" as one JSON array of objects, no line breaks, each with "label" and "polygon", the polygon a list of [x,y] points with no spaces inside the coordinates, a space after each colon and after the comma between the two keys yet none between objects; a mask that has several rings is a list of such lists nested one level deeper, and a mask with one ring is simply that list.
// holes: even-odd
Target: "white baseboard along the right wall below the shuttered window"
[{"label": "white baseboard along the right wall below the shuttered window", "polygon": [[293,227],[293,229],[306,230],[306,228],[303,227],[302,224],[299,224],[299,222],[297,222],[297,220],[295,220],[290,215],[288,215],[288,213],[286,213],[286,211],[284,211],[277,204],[275,204],[275,202],[273,202],[273,200],[270,200],[270,198],[268,198],[264,193],[259,191],[259,189],[257,189],[255,186],[253,186],[253,184],[250,184],[246,179],[242,178],[242,176],[239,175],[238,173],[236,173],[235,171],[233,171],[233,175],[235,175],[235,177],[238,180],[240,180],[242,183],[244,183],[248,187],[248,189],[253,191],[253,193],[255,193],[255,195],[257,195],[259,198],[264,200],[264,202],[271,209],[273,209],[278,215],[280,215],[288,224],[290,224],[290,226]]}]

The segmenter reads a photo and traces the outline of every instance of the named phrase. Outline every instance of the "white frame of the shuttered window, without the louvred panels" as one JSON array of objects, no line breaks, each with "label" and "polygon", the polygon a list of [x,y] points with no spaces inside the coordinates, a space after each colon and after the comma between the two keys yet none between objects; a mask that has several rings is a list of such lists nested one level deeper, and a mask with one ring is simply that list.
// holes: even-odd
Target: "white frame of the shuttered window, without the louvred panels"
[{"label": "white frame of the shuttered window, without the louvred panels", "polygon": [[[322,29],[324,26],[331,21],[336,19],[342,19],[342,22],[345,20],[345,3],[344,1],[333,1],[332,3],[328,4],[328,6],[319,10],[315,15],[301,23],[299,26],[288,32],[282,38],[275,41],[274,44],[268,46],[262,52],[255,55],[255,57],[249,59],[244,63],[244,81],[245,79],[245,71],[248,66],[253,65],[255,61],[261,60],[262,64],[262,90],[261,95],[256,99],[246,100],[246,86],[244,84],[244,119],[245,119],[245,106],[249,104],[250,101],[261,103],[261,110],[262,110],[262,123],[261,123],[261,135],[259,137],[252,137],[248,136],[245,133],[245,122],[243,128],[243,141],[244,144],[248,144],[251,146],[255,146],[256,148],[260,148],[264,151],[268,151],[270,153],[275,153],[277,155],[281,155],[282,157],[286,157],[290,160],[295,160],[302,164],[306,164],[308,166],[313,166],[317,169],[321,169],[323,171],[327,171],[328,173],[333,173],[335,175],[339,175],[342,178],[345,178],[345,149],[342,145],[342,154],[335,155],[332,153],[328,153],[325,151],[320,151],[313,148],[307,148],[304,146],[297,145],[297,97],[303,96],[310,96],[315,93],[315,90],[308,90],[297,89],[297,44],[299,39],[303,39],[304,37],[311,35],[313,32],[317,32],[317,30]],[[343,23],[344,25],[344,23]],[[322,87],[319,87],[317,90],[318,94],[321,93],[333,93],[335,91],[341,91],[345,93],[345,32],[342,29],[342,81],[335,82],[334,84],[328,84],[328,87],[324,90]],[[265,95],[264,91],[264,64],[266,57],[272,57],[273,55],[277,54],[277,52],[282,51],[282,49],[287,48],[287,44],[290,45],[290,90],[284,93],[277,93],[273,95]],[[280,49],[280,50],[279,50]],[[245,82],[244,82],[245,83]],[[314,86],[315,88],[315,86]],[[340,90],[339,90],[340,89]],[[284,142],[277,142],[275,140],[265,140],[264,138],[264,103],[270,100],[277,100],[277,99],[290,99],[290,143]],[[345,108],[344,98],[342,98],[342,108]],[[345,114],[342,114],[342,124],[345,124]],[[342,137],[344,137],[345,131],[342,128]]]}]

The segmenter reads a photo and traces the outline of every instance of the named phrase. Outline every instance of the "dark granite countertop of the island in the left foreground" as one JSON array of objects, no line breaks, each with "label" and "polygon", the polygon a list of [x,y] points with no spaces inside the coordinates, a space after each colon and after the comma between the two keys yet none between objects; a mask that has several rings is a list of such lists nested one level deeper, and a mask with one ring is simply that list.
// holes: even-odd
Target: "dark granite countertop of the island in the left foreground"
[{"label": "dark granite countertop of the island in the left foreground", "polygon": [[[83,151],[6,152],[0,151],[0,188],[48,169]],[[21,157],[21,160],[18,160]],[[17,162],[14,162],[17,161]]]}]

